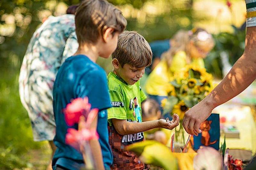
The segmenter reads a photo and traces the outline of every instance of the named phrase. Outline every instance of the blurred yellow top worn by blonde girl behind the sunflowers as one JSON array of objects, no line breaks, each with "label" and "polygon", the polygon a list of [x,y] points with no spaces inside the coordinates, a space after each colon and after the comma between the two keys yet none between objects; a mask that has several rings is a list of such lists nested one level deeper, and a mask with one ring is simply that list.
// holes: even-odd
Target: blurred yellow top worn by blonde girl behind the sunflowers
[{"label": "blurred yellow top worn by blonde girl behind the sunflowers", "polygon": [[[193,59],[191,64],[204,68],[204,60],[202,58]],[[172,89],[169,82],[173,80],[173,75],[179,73],[186,65],[187,55],[184,51],[180,51],[173,56],[169,69],[166,60],[161,60],[148,76],[145,86],[147,94],[168,96],[168,92]]]}]

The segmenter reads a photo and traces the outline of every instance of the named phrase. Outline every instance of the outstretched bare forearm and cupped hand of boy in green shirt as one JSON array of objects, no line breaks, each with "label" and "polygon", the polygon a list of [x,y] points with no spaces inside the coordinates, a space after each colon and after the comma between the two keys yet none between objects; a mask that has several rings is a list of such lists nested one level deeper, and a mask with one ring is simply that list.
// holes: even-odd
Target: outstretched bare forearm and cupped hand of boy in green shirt
[{"label": "outstretched bare forearm and cupped hand of boy in green shirt", "polygon": [[165,128],[172,130],[180,123],[180,118],[177,114],[173,115],[172,121],[166,121],[164,119],[152,120],[147,122],[128,122],[127,120],[111,119],[116,131],[120,135],[129,135],[148,131],[154,128]]}]

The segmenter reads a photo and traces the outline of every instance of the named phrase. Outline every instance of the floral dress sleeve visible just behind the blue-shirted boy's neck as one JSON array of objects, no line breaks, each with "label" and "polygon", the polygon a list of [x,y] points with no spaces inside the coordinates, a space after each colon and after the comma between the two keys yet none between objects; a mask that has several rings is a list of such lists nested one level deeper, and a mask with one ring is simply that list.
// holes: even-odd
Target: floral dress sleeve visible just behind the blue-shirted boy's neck
[{"label": "floral dress sleeve visible just behind the blue-shirted boy's neck", "polygon": [[76,38],[76,32],[72,32],[67,41],[66,41],[66,45],[64,47],[64,51],[63,51],[63,55],[62,55],[62,59],[61,59],[61,64],[70,56],[74,55],[74,53],[76,53],[78,48],[78,42],[77,42],[77,38]]}]

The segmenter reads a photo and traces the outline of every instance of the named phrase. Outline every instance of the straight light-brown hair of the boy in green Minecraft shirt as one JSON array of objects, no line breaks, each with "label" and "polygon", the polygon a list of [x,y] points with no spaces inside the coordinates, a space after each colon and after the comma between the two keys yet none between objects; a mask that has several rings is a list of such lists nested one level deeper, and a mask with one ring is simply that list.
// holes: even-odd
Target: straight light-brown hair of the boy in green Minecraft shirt
[{"label": "straight light-brown hair of the boy in green Minecraft shirt", "polygon": [[152,62],[151,48],[140,34],[134,31],[124,31],[118,37],[116,50],[112,59],[116,58],[124,67],[131,64],[133,67],[148,67]]}]

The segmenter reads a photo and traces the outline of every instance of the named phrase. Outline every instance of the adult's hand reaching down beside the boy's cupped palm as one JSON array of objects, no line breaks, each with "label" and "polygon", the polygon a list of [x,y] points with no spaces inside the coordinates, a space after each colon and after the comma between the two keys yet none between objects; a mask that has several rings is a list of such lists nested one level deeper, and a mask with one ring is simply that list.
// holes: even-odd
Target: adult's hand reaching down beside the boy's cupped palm
[{"label": "adult's hand reaching down beside the boy's cupped palm", "polygon": [[182,125],[190,135],[198,136],[202,131],[200,124],[204,122],[212,113],[213,107],[203,101],[186,111]]}]

